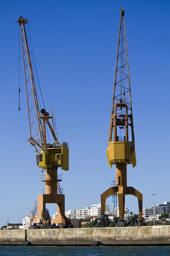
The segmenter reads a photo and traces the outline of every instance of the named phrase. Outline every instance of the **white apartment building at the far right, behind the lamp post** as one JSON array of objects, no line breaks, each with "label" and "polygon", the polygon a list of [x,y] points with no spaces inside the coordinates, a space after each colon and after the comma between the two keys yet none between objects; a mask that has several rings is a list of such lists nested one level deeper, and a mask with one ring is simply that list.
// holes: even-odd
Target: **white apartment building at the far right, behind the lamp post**
[{"label": "white apartment building at the far right, behind the lamp post", "polygon": [[[158,217],[162,213],[170,213],[170,202],[164,202],[164,204],[157,204],[155,206],[155,219],[158,220]],[[144,208],[143,217],[146,221],[153,220],[153,206]]]}]

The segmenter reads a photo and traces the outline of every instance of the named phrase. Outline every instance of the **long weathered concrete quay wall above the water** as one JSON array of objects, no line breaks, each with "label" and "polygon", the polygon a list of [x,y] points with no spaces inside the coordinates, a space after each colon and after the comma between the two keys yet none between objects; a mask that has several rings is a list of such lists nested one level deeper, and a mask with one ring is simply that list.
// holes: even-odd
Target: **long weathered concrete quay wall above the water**
[{"label": "long weathered concrete quay wall above the water", "polygon": [[104,245],[170,244],[170,226],[103,227],[50,230],[0,230],[0,245]]}]

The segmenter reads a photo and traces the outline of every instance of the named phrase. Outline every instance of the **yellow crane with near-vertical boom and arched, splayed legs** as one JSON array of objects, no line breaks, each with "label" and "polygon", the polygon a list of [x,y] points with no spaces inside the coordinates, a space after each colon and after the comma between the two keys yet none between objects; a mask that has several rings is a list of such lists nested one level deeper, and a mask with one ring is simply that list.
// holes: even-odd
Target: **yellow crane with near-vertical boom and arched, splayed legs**
[{"label": "yellow crane with near-vertical boom and arched, splayed legs", "polygon": [[[101,195],[101,210],[105,214],[105,200],[113,195],[119,201],[119,218],[124,220],[125,195],[134,195],[139,201],[139,219],[142,220],[142,194],[127,186],[127,164],[136,166],[133,111],[130,92],[129,63],[125,29],[125,11],[121,7],[119,38],[116,57],[111,122],[107,148],[108,164],[116,165],[116,180]],[[116,198],[116,199],[115,199]]]}]

